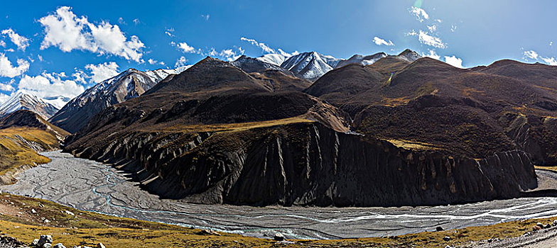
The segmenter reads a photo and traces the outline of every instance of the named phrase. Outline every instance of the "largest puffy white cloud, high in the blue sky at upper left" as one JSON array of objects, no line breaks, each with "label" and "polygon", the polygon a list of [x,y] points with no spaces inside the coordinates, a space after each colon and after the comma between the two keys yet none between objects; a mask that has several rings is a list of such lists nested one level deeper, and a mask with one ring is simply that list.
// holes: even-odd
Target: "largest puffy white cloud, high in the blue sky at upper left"
[{"label": "largest puffy white cloud, high in the blue sky at upper left", "polygon": [[45,38],[40,49],[58,47],[63,52],[85,50],[100,55],[116,55],[126,60],[141,62],[144,43],[135,35],[129,39],[119,26],[102,21],[99,25],[87,21],[87,17],[77,17],[72,8],[63,6],[48,16],[40,18]]}]

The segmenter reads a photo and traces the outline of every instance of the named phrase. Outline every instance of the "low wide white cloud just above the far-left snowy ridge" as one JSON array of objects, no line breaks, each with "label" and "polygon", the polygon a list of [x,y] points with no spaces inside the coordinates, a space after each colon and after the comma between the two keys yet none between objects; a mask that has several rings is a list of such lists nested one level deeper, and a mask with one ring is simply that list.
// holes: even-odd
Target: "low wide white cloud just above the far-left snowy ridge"
[{"label": "low wide white cloud just above the far-left snowy ridge", "polygon": [[85,91],[85,88],[73,80],[63,79],[65,74],[43,72],[36,77],[25,75],[19,81],[18,89],[38,97],[66,96],[74,98]]}]

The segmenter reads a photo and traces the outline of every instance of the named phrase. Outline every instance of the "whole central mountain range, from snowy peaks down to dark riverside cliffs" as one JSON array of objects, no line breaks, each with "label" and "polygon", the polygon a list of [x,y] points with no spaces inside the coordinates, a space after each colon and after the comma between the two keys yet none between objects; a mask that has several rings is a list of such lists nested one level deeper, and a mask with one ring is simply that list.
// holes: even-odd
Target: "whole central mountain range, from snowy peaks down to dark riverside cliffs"
[{"label": "whole central mountain range, from snowy peaks down to dark riverside cliffs", "polygon": [[[280,65],[279,65],[280,64]],[[50,118],[64,150],[193,203],[431,205],[519,196],[557,163],[557,70],[405,50],[128,69]]]}]

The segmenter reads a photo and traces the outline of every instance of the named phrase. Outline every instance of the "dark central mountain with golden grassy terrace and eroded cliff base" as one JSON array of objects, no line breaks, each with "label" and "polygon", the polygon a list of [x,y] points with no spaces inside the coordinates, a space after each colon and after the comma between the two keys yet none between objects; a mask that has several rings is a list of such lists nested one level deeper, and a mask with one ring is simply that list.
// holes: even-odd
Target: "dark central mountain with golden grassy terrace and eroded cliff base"
[{"label": "dark central mountain with golden grassy terrace and eroded cliff base", "polygon": [[349,124],[319,98],[274,92],[268,81],[207,58],[105,109],[65,150],[195,203],[421,205],[507,198],[536,186],[524,152],[475,160],[347,134]]}]

